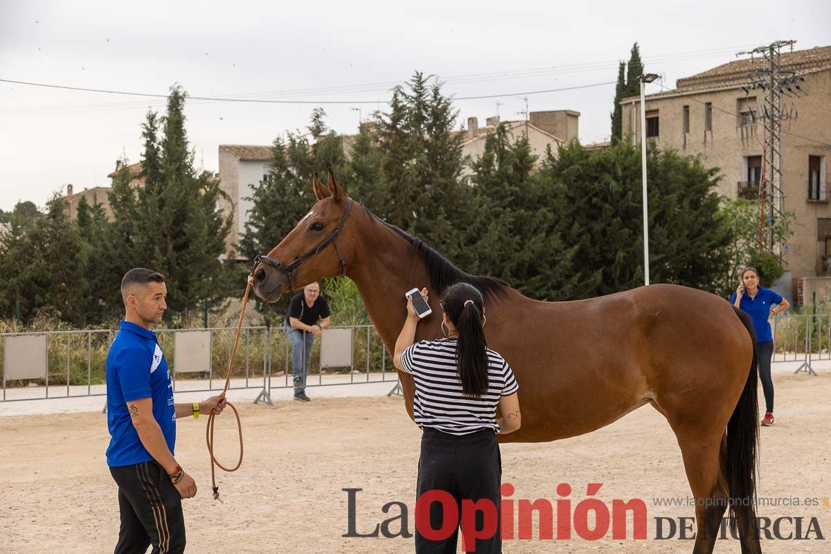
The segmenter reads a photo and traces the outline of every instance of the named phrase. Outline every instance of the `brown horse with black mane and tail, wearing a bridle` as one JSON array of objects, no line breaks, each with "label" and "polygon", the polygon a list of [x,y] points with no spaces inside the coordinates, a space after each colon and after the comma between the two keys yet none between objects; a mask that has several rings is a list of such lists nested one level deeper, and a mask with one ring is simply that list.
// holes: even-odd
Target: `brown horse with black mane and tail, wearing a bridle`
[{"label": "brown horse with black mane and tail, wearing a bridle", "polygon": [[[696,497],[693,552],[712,552],[730,504],[741,552],[761,552],[755,532],[758,438],[755,338],[750,320],[707,292],[652,285],[577,302],[537,302],[444,257],[353,203],[332,175],[315,176],[317,203],[254,267],[266,302],[325,277],[356,282],[388,351],[406,317],[404,293],[428,287],[432,315],[416,341],[441,336],[438,302],[454,282],[484,292],[489,347],[519,382],[523,424],[501,442],[543,442],[600,429],[644,404],[666,417]],[[330,248],[331,246],[331,248]],[[415,386],[399,372],[407,413]]]}]

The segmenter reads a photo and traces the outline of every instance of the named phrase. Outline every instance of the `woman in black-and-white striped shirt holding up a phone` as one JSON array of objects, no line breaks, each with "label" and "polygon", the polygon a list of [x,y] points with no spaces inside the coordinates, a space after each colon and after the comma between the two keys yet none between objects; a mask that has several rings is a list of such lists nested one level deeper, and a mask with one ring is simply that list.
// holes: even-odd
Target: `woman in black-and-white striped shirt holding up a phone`
[{"label": "woman in black-and-white striped shirt holding up a phone", "polygon": [[[426,300],[427,289],[421,294]],[[408,299],[407,319],[393,358],[396,368],[413,375],[413,412],[416,424],[424,430],[416,494],[420,498],[429,491],[449,493],[460,508],[457,517],[463,512],[463,500],[489,501],[493,510],[484,509],[486,503],[477,506],[483,508],[475,512],[475,529],[463,526],[465,547],[470,551],[475,546],[477,553],[502,552],[502,462],[496,434],[519,429],[519,385],[508,363],[489,350],[484,339],[482,293],[468,283],[456,283],[447,289],[440,306],[445,338],[413,344],[419,317]],[[497,406],[502,412],[499,419]],[[444,528],[443,506],[430,504],[429,524],[434,531]],[[426,523],[419,522],[416,513],[416,552],[456,552],[458,525],[449,537],[430,540],[422,534]],[[484,529],[495,532],[479,538]],[[474,532],[479,533],[470,539]]]}]

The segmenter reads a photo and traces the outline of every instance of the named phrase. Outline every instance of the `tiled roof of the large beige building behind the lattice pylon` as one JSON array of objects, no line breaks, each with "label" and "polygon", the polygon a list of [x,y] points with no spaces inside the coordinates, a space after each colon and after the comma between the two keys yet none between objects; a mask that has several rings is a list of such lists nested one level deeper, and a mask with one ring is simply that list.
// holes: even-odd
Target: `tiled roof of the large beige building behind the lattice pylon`
[{"label": "tiled roof of the large beige building behind the lattice pylon", "polygon": [[[809,50],[784,52],[780,60],[782,69],[796,71],[799,75],[810,75],[818,71],[831,69],[831,47],[816,47]],[[748,73],[763,68],[760,57],[730,61],[713,69],[702,71],[696,75],[684,77],[676,81],[677,88],[671,91],[661,91],[647,95],[647,98],[661,98],[678,94],[698,91],[714,91],[719,89],[735,89],[744,86],[748,81]],[[621,102],[637,100],[637,96],[629,96]]]}]

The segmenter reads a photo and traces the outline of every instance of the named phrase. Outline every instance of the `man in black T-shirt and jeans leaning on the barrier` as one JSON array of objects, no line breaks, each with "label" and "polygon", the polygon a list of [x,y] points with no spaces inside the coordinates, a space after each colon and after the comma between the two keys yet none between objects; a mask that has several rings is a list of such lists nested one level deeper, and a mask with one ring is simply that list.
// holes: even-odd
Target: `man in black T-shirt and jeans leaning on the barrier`
[{"label": "man in black T-shirt and jeans leaning on the barrier", "polygon": [[[318,325],[318,320],[320,324]],[[320,285],[310,282],[288,304],[286,335],[292,341],[292,370],[294,376],[294,400],[308,402],[306,377],[312,359],[314,337],[329,326],[329,304],[320,295]]]}]

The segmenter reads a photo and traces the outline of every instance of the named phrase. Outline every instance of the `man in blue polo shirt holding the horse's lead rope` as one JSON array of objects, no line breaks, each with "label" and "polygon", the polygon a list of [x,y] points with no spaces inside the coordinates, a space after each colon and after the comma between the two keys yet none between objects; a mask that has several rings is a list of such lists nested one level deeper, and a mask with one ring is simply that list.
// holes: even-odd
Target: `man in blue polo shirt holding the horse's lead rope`
[{"label": "man in blue polo shirt holding the horse's lead rope", "polygon": [[118,485],[116,554],[184,552],[182,498],[196,483],[174,458],[176,418],[225,407],[224,395],[175,404],[170,370],[150,326],[167,309],[165,277],[137,267],[121,280],[126,315],[106,359],[107,465]]}]

